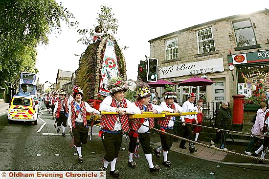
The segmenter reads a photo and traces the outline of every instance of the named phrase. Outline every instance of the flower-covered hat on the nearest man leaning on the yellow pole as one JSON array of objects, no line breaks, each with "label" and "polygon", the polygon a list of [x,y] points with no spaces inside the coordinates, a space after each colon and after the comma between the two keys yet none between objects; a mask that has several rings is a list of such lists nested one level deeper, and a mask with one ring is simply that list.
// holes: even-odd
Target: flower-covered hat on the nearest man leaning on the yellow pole
[{"label": "flower-covered hat on the nearest man leaning on the yellow pole", "polygon": [[126,81],[124,81],[120,77],[112,78],[108,80],[108,89],[110,90],[111,94],[115,94],[119,91],[127,91],[128,86],[126,84]]}]

